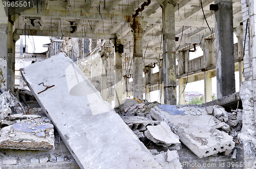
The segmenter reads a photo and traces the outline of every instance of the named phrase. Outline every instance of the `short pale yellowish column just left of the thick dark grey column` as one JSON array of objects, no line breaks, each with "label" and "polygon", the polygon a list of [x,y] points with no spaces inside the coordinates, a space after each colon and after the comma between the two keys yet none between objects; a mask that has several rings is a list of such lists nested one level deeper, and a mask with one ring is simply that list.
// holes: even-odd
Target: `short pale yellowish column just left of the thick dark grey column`
[{"label": "short pale yellowish column just left of the thick dark grey column", "polygon": [[210,72],[204,72],[204,103],[212,101]]}]

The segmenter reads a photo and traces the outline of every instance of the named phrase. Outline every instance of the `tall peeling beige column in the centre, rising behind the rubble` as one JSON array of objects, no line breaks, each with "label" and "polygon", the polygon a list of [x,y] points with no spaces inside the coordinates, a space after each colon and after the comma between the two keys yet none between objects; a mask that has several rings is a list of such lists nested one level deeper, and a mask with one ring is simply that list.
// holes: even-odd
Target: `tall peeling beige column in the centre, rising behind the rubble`
[{"label": "tall peeling beige column in the centre, rising behind the rubble", "polygon": [[162,15],[164,103],[176,105],[175,6],[171,2],[163,5]]}]

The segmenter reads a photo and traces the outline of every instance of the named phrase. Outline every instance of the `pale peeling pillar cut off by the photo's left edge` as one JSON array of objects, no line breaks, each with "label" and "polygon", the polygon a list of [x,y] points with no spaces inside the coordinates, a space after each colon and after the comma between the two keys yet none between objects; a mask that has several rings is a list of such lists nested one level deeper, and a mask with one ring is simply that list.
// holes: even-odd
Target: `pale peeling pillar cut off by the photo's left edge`
[{"label": "pale peeling pillar cut off by the photo's left edge", "polygon": [[0,2],[0,88],[7,89],[8,13]]}]

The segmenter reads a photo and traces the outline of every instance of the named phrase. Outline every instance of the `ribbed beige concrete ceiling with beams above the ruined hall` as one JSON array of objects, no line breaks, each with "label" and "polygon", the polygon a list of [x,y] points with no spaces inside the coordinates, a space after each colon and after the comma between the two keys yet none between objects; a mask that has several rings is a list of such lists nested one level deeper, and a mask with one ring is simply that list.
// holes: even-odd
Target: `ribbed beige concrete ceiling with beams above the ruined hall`
[{"label": "ribbed beige concrete ceiling with beams above the ruined hall", "polygon": [[[28,0],[29,1],[29,0]],[[212,0],[181,0],[175,7],[176,48],[193,48],[205,38],[214,39],[215,15]],[[144,9],[143,9],[144,8]],[[209,27],[206,24],[205,18]],[[140,10],[138,10],[140,9]],[[140,12],[138,12],[140,11]],[[242,22],[241,1],[233,0],[233,27]],[[33,7],[15,8],[15,31],[20,35],[126,39],[124,52],[132,54],[133,15],[143,17],[146,58],[161,57],[162,9],[156,0],[33,0]]]}]

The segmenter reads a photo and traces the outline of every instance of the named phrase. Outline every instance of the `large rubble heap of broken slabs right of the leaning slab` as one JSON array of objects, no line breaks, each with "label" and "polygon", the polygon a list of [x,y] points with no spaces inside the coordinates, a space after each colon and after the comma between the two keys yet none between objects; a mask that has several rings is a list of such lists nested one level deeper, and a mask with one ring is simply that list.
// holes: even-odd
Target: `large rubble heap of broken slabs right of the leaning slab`
[{"label": "large rubble heap of broken slabs right of the leaning slab", "polygon": [[153,149],[152,154],[158,156],[163,156],[159,155],[161,151],[179,152],[179,140],[199,158],[222,152],[228,156],[238,143],[242,127],[241,109],[226,112],[219,105],[176,106],[127,99],[115,110],[145,145],[151,145],[147,148]]}]

